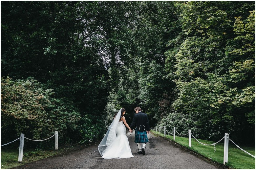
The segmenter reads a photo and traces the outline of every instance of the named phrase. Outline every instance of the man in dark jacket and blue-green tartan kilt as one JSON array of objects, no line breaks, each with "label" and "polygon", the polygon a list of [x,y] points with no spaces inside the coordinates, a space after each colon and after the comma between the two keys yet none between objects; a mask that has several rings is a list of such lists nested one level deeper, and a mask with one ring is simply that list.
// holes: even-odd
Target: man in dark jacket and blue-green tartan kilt
[{"label": "man in dark jacket and blue-green tartan kilt", "polygon": [[[145,155],[145,146],[148,142],[147,134],[149,134],[148,115],[142,113],[140,107],[136,107],[134,111],[136,112],[136,115],[133,116],[133,121],[130,127],[133,128],[134,126],[136,126],[134,142],[138,145],[138,153],[142,153],[143,155]],[[142,144],[142,149],[140,144]]]}]

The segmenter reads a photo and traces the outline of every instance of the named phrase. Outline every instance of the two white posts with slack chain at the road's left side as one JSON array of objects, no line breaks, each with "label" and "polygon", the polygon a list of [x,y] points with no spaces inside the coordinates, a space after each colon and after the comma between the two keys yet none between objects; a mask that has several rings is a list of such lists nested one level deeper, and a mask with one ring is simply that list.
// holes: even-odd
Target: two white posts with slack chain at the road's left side
[{"label": "two white posts with slack chain at the road's left side", "polygon": [[[58,150],[58,131],[55,131],[55,134],[53,135],[55,136],[55,150]],[[15,142],[17,140],[20,139],[20,147],[19,147],[19,157],[18,157],[18,162],[22,162],[22,158],[23,158],[23,148],[24,148],[24,139],[28,139],[31,141],[36,141],[36,142],[40,142],[40,141],[46,141],[48,139],[51,139],[53,136],[47,138],[47,139],[43,139],[43,140],[34,140],[34,139],[29,139],[27,137],[25,137],[25,135],[23,133],[20,134],[20,137],[18,139],[15,139],[14,141],[11,141],[7,144],[1,145],[1,147],[11,144],[12,142]]]}]

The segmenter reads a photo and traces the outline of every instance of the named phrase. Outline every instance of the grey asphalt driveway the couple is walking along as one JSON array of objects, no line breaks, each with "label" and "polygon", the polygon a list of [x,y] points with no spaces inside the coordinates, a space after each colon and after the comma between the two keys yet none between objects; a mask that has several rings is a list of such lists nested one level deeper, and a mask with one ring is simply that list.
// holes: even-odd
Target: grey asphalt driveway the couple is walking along
[{"label": "grey asphalt driveway the couple is walking along", "polygon": [[145,149],[146,155],[137,154],[134,131],[126,135],[134,158],[104,160],[98,152],[98,144],[95,144],[61,156],[24,164],[15,169],[222,169],[152,133]]}]

